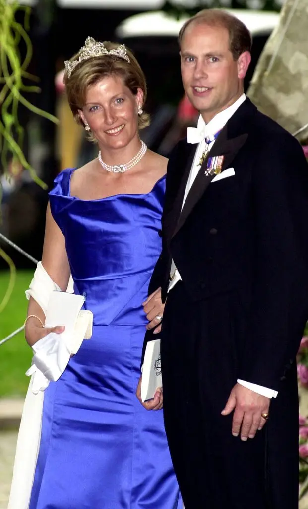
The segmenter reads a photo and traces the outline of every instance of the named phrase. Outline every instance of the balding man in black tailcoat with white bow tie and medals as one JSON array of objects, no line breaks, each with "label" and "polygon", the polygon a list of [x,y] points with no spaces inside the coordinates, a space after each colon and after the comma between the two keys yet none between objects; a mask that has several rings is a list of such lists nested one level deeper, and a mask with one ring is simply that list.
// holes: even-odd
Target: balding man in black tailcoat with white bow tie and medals
[{"label": "balding man in black tailcoat with white bow tie and medals", "polygon": [[[174,469],[186,509],[295,509],[308,168],[296,139],[243,95],[251,36],[240,21],[201,11],[179,42],[201,116],[169,160],[149,288],[163,302],[168,292],[161,360]],[[150,320],[158,295],[145,304]],[[156,394],[145,406],[161,403]]]}]

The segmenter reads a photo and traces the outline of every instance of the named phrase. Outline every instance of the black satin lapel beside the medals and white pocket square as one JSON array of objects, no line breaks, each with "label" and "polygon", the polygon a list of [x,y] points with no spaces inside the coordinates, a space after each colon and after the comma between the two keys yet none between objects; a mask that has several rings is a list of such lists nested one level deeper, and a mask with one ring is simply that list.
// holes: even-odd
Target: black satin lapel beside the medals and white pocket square
[{"label": "black satin lapel beside the medals and white pocket square", "polygon": [[224,155],[225,158],[222,167],[223,172],[225,169],[230,167],[234,157],[236,156],[239,149],[243,146],[247,138],[248,134],[243,133],[240,134],[239,136],[228,139],[227,125],[222,129],[212,149],[210,150],[208,157],[200,167],[199,173],[190,189],[190,192],[188,193],[187,199],[178,217],[178,221],[174,229],[173,236],[182,227],[182,225],[188,218],[189,214],[191,213],[195,205],[198,203],[201,196],[204,194],[204,191],[215,177],[215,175],[212,176],[205,175],[208,158],[212,156]]}]

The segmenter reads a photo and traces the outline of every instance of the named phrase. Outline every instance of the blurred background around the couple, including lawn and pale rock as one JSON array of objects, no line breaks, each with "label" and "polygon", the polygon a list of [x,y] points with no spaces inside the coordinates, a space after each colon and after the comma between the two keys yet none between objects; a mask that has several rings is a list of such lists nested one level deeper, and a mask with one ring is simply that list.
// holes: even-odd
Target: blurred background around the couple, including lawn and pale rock
[{"label": "blurred background around the couple, including lawn and pale rock", "polygon": [[[9,3],[9,0],[0,0],[0,17],[2,5]],[[287,3],[289,3],[288,9]],[[283,97],[289,97],[294,92],[295,82],[296,86],[298,83],[308,82],[307,79],[303,79],[308,77],[307,52],[302,50],[304,36],[299,37],[302,34],[301,23],[304,23],[303,26],[306,29],[308,28],[308,12],[304,9],[305,3],[307,4],[307,0],[286,0],[286,2],[284,0],[23,0],[19,2],[20,9],[16,10],[15,18],[21,26],[25,26],[25,12],[27,12],[28,25],[25,27],[32,43],[32,55],[27,71],[38,78],[36,84],[40,88],[40,93],[28,90],[23,95],[35,107],[55,116],[58,123],[37,115],[23,104],[18,105],[18,119],[23,128],[21,149],[28,163],[35,168],[37,176],[45,183],[45,189],[33,180],[22,163],[13,164],[10,160],[10,151],[6,161],[0,162],[2,188],[0,509],[7,506],[16,442],[15,427],[20,418],[20,405],[28,383],[24,373],[32,355],[30,349],[25,346],[22,332],[10,341],[3,344],[1,342],[13,330],[22,326],[25,317],[24,290],[32,278],[35,261],[41,259],[47,193],[52,187],[54,177],[61,169],[84,164],[97,154],[96,146],[87,142],[84,130],[75,124],[68,107],[61,73],[64,61],[79,50],[88,36],[101,41],[118,41],[129,46],[135,53],[148,83],[148,100],[144,109],[151,115],[151,125],[141,131],[141,137],[150,149],[168,157],[177,140],[185,135],[186,128],[195,125],[197,120],[197,112],[183,96],[181,85],[177,44],[180,26],[202,8],[231,9],[231,12],[248,26],[253,35],[252,64],[245,79],[245,91],[252,90],[254,97],[251,98],[255,99],[258,107],[261,106],[264,112],[275,120],[281,121],[280,123],[287,128],[288,125],[285,123],[290,122],[294,112],[296,114],[298,111],[298,115],[293,115],[295,120],[293,119],[289,127],[290,132],[294,133],[301,130],[302,126],[305,129],[307,127],[300,118],[299,112],[304,111],[305,115],[308,115],[308,104],[305,109],[298,97],[293,97],[293,102],[290,103],[290,100],[287,100],[281,114],[281,112],[278,113],[277,103],[283,104]],[[297,21],[296,18],[294,21],[294,14],[296,14],[294,6],[299,9]],[[300,10],[301,6],[303,6],[302,10]],[[283,9],[285,9],[285,17],[282,20]],[[303,15],[306,17],[304,18]],[[279,24],[282,24],[280,31]],[[296,37],[294,35],[293,38],[288,39],[287,31],[291,29],[292,34],[296,33]],[[306,30],[303,31],[303,34],[305,33]],[[276,34],[275,37],[274,34]],[[272,47],[270,36],[273,40]],[[296,39],[296,51],[298,50],[300,55],[298,58],[292,46],[294,39]],[[264,54],[266,43],[269,48],[268,54]],[[283,44],[287,45],[287,51],[284,50]],[[280,58],[278,58],[278,50]],[[0,51],[2,51],[1,41]],[[27,45],[21,38],[16,46],[16,54],[19,54],[21,61],[26,58],[27,51]],[[287,69],[286,62],[281,60],[281,54],[284,55],[283,58],[290,60],[288,51],[292,55],[295,54],[297,58],[296,60],[294,57],[295,60],[292,61],[294,72]],[[304,53],[305,56],[303,56]],[[284,73],[281,73],[279,66],[283,66]],[[275,80],[282,83],[281,87],[285,87],[283,92],[275,90],[275,86],[270,85],[267,96],[262,95],[264,94],[262,79],[267,71],[271,71],[274,83]],[[293,77],[290,72],[291,74],[293,72]],[[25,83],[32,83],[30,76],[25,78]],[[0,91],[3,87],[4,84],[0,83]],[[305,90],[300,90],[300,97],[304,96],[307,102],[308,85],[305,87]],[[261,104],[258,104],[258,99]],[[297,119],[299,119],[298,122]],[[303,145],[308,138],[308,134],[305,137],[305,129],[301,138]],[[1,134],[0,129],[0,139]],[[20,139],[17,128],[15,131],[13,129],[13,137],[16,140]],[[9,245],[1,234],[25,250],[33,259],[25,257]],[[8,265],[11,267],[11,275]],[[14,281],[15,285],[13,285]],[[5,301],[3,301],[4,298]],[[11,426],[13,429],[8,430]],[[5,433],[4,435],[1,434],[1,430]]]}]

